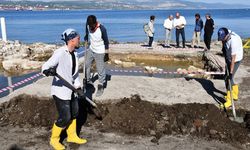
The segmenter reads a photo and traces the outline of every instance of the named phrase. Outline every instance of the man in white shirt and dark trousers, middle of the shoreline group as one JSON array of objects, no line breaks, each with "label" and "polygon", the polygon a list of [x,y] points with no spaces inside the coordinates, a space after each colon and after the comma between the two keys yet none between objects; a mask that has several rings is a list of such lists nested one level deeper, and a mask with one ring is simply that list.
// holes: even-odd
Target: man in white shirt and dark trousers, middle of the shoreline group
[{"label": "man in white shirt and dark trousers, middle of the shoreline group", "polygon": [[179,12],[176,13],[176,18],[174,19],[174,27],[176,28],[176,47],[179,48],[179,36],[182,37],[182,46],[185,48],[185,25],[187,24],[185,17],[181,16]]}]

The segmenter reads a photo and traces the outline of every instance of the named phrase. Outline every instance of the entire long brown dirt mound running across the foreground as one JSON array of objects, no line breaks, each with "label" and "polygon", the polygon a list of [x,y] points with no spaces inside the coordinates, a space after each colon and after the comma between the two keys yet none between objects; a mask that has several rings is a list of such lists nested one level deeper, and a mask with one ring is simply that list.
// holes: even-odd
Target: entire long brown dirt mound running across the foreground
[{"label": "entire long brown dirt mound running across the foreground", "polygon": [[[152,142],[158,142],[163,135],[180,134],[235,144],[250,142],[244,123],[232,122],[225,112],[211,104],[166,106],[142,101],[135,95],[117,103],[99,104],[99,107],[102,121],[89,115],[87,122],[83,122],[102,132],[154,136]],[[21,95],[0,106],[0,126],[41,126],[49,129],[55,114],[53,100]]]}]

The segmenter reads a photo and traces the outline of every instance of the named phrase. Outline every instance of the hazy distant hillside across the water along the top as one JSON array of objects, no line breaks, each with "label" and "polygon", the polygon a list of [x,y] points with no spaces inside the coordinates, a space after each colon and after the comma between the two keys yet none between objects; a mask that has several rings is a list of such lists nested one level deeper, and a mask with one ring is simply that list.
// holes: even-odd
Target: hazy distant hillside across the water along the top
[{"label": "hazy distant hillside across the water along the top", "polygon": [[73,1],[1,0],[2,5],[46,5],[49,8],[69,9],[232,9],[250,8],[250,5],[208,4],[185,0],[73,0]]}]

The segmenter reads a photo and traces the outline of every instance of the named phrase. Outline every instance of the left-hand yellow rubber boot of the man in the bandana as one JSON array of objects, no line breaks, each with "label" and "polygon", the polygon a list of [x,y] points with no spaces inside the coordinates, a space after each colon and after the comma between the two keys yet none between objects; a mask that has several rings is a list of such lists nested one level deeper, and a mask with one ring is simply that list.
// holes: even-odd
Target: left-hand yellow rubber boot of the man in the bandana
[{"label": "left-hand yellow rubber boot of the man in the bandana", "polygon": [[60,143],[60,134],[62,132],[63,128],[60,128],[56,126],[54,123],[53,128],[52,128],[52,134],[50,138],[50,145],[55,149],[55,150],[64,150],[65,147]]}]

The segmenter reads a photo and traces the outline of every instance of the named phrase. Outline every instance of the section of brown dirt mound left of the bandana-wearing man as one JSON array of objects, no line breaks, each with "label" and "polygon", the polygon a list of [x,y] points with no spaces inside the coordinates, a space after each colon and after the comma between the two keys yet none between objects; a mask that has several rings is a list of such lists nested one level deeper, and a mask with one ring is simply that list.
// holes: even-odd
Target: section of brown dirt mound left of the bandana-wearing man
[{"label": "section of brown dirt mound left of the bandana-wearing man", "polygon": [[0,105],[0,126],[51,127],[55,114],[52,99],[20,95]]}]

